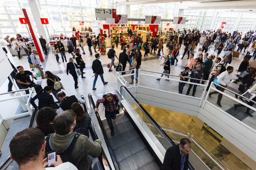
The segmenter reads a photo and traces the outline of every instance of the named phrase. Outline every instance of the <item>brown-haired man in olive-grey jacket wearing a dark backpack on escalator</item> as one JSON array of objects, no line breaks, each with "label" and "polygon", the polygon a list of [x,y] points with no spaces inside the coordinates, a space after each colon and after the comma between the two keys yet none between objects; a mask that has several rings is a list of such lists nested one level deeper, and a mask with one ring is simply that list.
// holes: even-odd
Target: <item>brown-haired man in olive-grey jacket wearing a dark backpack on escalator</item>
[{"label": "brown-haired man in olive-grey jacket wearing a dark backpack on escalator", "polygon": [[66,110],[57,115],[53,120],[55,133],[46,137],[45,155],[47,152],[56,150],[62,161],[70,162],[78,170],[91,170],[91,158],[97,158],[101,153],[101,141],[99,139],[91,142],[85,135],[73,132],[76,127],[75,113]]}]

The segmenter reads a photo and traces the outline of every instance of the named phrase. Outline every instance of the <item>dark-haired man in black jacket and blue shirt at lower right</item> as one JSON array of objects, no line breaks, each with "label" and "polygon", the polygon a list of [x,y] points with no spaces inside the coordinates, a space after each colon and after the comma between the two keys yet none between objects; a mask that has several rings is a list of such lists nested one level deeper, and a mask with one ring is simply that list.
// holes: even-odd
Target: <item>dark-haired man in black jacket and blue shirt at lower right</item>
[{"label": "dark-haired man in black jacket and blue shirt at lower right", "polygon": [[166,150],[164,163],[160,170],[187,170],[191,142],[182,138],[179,145],[174,145]]}]

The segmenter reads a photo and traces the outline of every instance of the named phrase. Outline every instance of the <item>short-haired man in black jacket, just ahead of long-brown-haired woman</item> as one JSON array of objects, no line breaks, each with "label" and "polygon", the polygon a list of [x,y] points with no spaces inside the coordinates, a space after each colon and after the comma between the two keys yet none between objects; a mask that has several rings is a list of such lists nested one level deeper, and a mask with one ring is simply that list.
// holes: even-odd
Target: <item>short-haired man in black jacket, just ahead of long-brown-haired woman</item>
[{"label": "short-haired man in black jacket, just ahead of long-brown-haired woman", "polygon": [[74,102],[79,102],[81,104],[85,104],[85,101],[75,95],[72,96],[67,96],[64,91],[60,91],[57,93],[57,97],[59,98],[59,100],[61,100],[61,104],[59,105],[60,107],[60,112],[63,112],[65,110],[71,110],[71,105]]}]

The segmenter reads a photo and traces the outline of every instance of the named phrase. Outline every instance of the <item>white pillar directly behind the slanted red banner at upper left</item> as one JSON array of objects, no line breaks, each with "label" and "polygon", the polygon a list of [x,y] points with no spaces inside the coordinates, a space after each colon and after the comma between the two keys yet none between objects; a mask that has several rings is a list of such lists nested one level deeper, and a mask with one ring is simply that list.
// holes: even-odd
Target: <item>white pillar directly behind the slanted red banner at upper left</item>
[{"label": "white pillar directly behind the slanted red banner at upper left", "polygon": [[[29,7],[31,9],[31,13],[33,15],[34,21],[36,23],[36,28],[37,28],[39,37],[40,37],[40,35],[42,35],[44,37],[44,39],[46,39],[46,42],[47,42],[46,47],[48,48],[50,37],[48,35],[48,32],[47,32],[45,26],[41,23],[41,20],[40,20],[40,18],[41,18],[40,13],[41,12],[40,12],[39,7],[36,3],[36,0],[28,0],[28,4],[29,4]],[[40,42],[39,42],[39,45],[41,46]]]}]

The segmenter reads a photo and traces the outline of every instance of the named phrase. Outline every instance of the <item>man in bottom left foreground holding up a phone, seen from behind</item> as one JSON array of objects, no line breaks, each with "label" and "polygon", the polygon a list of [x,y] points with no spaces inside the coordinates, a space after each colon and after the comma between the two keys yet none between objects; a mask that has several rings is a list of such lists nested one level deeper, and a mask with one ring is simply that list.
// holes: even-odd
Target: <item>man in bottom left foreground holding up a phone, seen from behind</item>
[{"label": "man in bottom left foreground holding up a phone, seen from behind", "polygon": [[[44,133],[40,129],[24,129],[10,141],[10,158],[18,164],[19,170],[52,170],[47,168],[48,162],[44,159],[45,145]],[[59,155],[56,158],[51,162],[51,166],[56,167],[54,170],[77,170],[72,163],[63,163]]]}]

